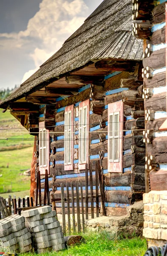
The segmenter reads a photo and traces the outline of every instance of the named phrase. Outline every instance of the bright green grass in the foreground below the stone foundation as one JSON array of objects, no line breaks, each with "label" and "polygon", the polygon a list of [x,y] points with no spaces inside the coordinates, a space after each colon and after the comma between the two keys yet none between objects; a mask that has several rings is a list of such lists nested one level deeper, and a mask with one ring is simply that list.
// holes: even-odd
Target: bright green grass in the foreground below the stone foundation
[{"label": "bright green grass in the foreground below the stone foundation", "polygon": [[[58,253],[41,253],[41,256],[143,256],[147,250],[145,239],[133,237],[132,239],[121,237],[115,238],[110,233],[103,231],[99,233],[83,234],[85,243],[69,247]],[[32,253],[24,254],[32,256]]]}]

